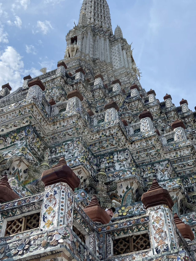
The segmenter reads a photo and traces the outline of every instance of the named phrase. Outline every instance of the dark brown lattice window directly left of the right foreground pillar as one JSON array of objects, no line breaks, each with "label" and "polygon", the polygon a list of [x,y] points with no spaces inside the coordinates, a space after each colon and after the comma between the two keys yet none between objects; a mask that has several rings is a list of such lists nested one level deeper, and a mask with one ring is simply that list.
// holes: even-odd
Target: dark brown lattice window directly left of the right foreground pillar
[{"label": "dark brown lattice window directly left of the right foreground pillar", "polygon": [[150,248],[148,234],[121,237],[113,240],[113,255],[122,255],[148,248]]}]

